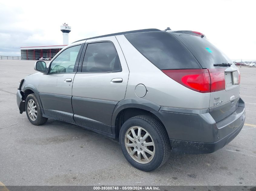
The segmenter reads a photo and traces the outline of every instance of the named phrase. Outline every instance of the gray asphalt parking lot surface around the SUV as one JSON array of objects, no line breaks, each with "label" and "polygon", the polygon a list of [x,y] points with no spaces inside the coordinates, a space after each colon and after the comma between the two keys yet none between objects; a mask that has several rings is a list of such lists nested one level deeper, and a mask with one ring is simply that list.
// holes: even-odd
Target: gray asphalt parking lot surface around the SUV
[{"label": "gray asphalt parking lot surface around the SUV", "polygon": [[32,125],[19,114],[19,79],[35,61],[0,60],[0,183],[16,185],[256,185],[256,67],[241,67],[245,125],[224,148],[171,155],[160,169],[132,167],[116,140],[49,119]]}]

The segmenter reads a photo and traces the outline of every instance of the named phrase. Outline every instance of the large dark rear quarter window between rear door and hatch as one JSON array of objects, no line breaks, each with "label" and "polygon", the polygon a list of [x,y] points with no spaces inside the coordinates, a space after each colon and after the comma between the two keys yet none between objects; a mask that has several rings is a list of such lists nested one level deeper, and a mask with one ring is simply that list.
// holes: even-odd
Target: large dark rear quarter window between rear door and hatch
[{"label": "large dark rear quarter window between rear door and hatch", "polygon": [[202,68],[189,50],[167,32],[132,33],[125,37],[160,70]]}]

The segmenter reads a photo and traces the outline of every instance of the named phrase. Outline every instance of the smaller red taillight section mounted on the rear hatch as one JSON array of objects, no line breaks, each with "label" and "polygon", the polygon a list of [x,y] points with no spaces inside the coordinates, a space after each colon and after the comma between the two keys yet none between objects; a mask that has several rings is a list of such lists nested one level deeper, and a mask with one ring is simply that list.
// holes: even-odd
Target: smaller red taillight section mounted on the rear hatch
[{"label": "smaller red taillight section mounted on the rear hatch", "polygon": [[211,78],[211,92],[225,89],[225,69],[226,68],[208,69]]}]

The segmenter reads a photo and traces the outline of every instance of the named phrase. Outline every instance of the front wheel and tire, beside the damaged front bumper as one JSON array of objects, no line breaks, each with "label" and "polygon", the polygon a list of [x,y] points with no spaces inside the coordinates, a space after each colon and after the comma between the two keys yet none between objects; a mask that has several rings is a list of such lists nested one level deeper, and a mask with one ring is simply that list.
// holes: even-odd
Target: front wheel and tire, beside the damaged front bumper
[{"label": "front wheel and tire, beside the damaged front bumper", "polygon": [[46,121],[48,120],[48,118],[43,117],[42,110],[40,108],[40,105],[38,103],[38,100],[35,94],[29,94],[27,96],[25,101],[25,111],[26,111],[28,120],[33,125],[42,125],[42,124],[45,124]]}]

